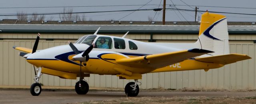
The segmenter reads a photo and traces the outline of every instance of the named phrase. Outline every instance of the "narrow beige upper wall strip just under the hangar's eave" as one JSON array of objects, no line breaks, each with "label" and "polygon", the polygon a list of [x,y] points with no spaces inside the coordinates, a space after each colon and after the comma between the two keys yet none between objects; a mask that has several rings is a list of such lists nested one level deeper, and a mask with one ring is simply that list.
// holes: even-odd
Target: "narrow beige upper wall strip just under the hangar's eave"
[{"label": "narrow beige upper wall strip just under the hangar's eave", "polygon": [[[58,34],[58,33],[41,33],[40,39],[78,39],[85,34]],[[122,37],[124,34],[103,34]],[[2,39],[35,39],[36,33],[1,33]],[[150,34],[129,34],[126,36],[129,39],[150,39]],[[197,34],[153,34],[153,39],[157,40],[197,40]],[[256,40],[256,35],[229,35],[230,40]]]}]

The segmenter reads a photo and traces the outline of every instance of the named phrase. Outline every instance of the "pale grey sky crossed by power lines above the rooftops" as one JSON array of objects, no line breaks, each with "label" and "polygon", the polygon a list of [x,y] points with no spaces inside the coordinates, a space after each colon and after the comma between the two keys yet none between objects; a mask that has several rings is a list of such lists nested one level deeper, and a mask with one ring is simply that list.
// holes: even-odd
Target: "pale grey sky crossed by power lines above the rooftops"
[{"label": "pale grey sky crossed by power lines above the rooftops", "polygon": [[[183,2],[182,2],[183,1]],[[160,3],[161,2],[161,3]],[[223,7],[246,7],[256,8],[256,0],[166,0],[166,8],[189,9],[199,7],[202,11],[216,11],[216,12],[232,12],[232,13],[246,13],[256,14],[256,9],[242,9],[242,8],[214,8],[202,6],[223,6]],[[110,6],[110,5],[144,5],[152,4],[151,6]],[[160,4],[160,5],[159,5]],[[16,14],[17,12],[25,13],[59,13],[63,12],[61,8],[5,8],[5,7],[49,7],[49,6],[105,6],[105,7],[73,7],[73,12],[95,12],[95,11],[112,11],[112,10],[136,10],[162,8],[163,0],[1,0],[0,15],[1,14]],[[104,20],[121,20],[121,21],[148,21],[148,18],[154,18],[153,21],[162,21],[162,11],[136,11],[136,12],[107,12],[107,13],[90,13],[84,14],[86,20],[104,21]],[[203,12],[198,12],[200,16]],[[128,15],[130,14],[130,15]],[[128,15],[128,16],[126,16]],[[236,15],[223,14],[227,16],[230,22],[256,22],[256,16],[250,15]],[[60,20],[59,15],[51,15],[54,20]],[[82,15],[80,15],[82,16]],[[126,17],[125,17],[126,16]],[[166,21],[194,21],[195,12],[173,11],[166,10]],[[0,16],[0,19],[16,19],[16,16]],[[50,19],[46,16],[45,20]]]}]

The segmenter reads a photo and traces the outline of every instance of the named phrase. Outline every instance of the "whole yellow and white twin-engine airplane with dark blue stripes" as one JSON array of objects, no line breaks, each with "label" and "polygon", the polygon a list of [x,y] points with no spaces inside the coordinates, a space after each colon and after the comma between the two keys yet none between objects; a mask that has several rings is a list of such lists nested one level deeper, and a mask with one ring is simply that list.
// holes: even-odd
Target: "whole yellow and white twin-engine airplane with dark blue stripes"
[{"label": "whole yellow and white twin-engine airplane with dark blue stripes", "polygon": [[[99,28],[100,29],[100,28]],[[251,59],[247,55],[230,54],[228,29],[225,16],[204,13],[196,43],[144,43],[123,37],[97,35],[80,37],[74,44],[60,45],[38,50],[40,34],[33,49],[13,47],[26,53],[20,56],[28,63],[38,67],[35,83],[31,85],[33,96],[41,93],[38,83],[42,73],[66,79],[80,80],[75,85],[77,94],[86,94],[89,90],[84,77],[90,74],[116,75],[120,79],[134,79],[126,84],[127,96],[139,93],[138,79],[142,74],[215,69],[226,64]]]}]

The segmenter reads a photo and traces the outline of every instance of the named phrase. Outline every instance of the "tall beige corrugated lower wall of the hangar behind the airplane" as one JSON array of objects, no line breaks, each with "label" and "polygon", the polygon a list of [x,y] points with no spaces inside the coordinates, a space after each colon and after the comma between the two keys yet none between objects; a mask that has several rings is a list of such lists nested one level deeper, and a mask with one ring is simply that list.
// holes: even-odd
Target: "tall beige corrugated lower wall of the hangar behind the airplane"
[{"label": "tall beige corrugated lower wall of the hangar behind the airplane", "polygon": [[[64,45],[63,41],[40,41],[38,49]],[[33,66],[18,56],[12,46],[32,48],[34,41],[0,41],[0,85],[30,86],[34,80]],[[247,54],[252,59],[226,65],[219,69],[149,73],[142,76],[141,88],[256,88],[256,44],[230,44],[230,53]],[[124,88],[132,80],[121,80],[111,75],[93,75],[86,78],[91,87]],[[74,86],[77,80],[43,75],[45,86]]]}]

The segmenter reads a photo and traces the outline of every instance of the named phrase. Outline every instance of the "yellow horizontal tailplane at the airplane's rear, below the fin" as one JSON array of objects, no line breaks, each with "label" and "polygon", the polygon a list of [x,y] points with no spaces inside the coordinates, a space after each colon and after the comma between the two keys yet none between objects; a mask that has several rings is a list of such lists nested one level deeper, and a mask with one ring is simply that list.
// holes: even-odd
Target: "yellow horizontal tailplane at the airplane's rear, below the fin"
[{"label": "yellow horizontal tailplane at the airplane's rear, below the fin", "polygon": [[228,54],[228,55],[218,55],[218,56],[211,56],[211,57],[202,57],[202,58],[196,58],[197,61],[202,61],[206,63],[219,63],[222,65],[235,63],[237,61],[242,61],[246,59],[252,59],[248,55],[242,55],[242,54]]}]

